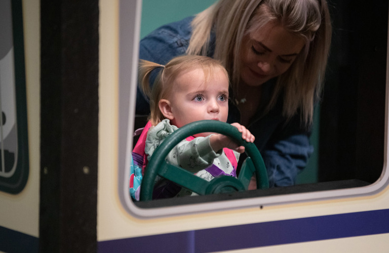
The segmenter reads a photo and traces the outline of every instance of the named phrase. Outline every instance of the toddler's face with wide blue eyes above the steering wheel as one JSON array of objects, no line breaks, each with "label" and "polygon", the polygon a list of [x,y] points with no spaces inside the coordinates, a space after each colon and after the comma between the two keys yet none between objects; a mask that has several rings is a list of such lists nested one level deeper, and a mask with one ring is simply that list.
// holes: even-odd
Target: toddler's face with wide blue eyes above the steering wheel
[{"label": "toddler's face with wide blue eyes above the steering wheel", "polygon": [[173,115],[170,122],[178,128],[203,119],[226,122],[228,77],[220,68],[211,74],[208,83],[202,69],[180,74],[173,82],[169,101]]}]

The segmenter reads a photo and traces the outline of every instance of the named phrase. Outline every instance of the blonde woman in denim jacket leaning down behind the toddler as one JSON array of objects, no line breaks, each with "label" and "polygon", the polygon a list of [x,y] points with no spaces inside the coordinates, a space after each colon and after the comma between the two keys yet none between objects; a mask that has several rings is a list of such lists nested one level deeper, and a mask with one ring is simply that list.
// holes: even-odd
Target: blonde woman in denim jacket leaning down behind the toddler
[{"label": "blonde woman in denim jacket leaning down behind the toddler", "polygon": [[[288,186],[313,152],[309,129],[330,37],[325,0],[220,0],[151,32],[141,40],[140,59],[220,60],[232,86],[227,122],[241,122],[255,136],[270,186]],[[148,113],[140,91],[136,108]]]}]

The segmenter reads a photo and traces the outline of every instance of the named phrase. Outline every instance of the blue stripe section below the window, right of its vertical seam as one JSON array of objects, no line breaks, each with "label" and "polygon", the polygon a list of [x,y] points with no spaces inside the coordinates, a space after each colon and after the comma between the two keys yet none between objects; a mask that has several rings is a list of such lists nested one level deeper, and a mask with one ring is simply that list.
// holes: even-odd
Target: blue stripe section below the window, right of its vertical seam
[{"label": "blue stripe section below the window, right of its vertical seam", "polygon": [[[197,231],[196,252],[389,233],[389,209]],[[214,243],[202,241],[217,235]],[[209,241],[208,239],[207,241]]]}]

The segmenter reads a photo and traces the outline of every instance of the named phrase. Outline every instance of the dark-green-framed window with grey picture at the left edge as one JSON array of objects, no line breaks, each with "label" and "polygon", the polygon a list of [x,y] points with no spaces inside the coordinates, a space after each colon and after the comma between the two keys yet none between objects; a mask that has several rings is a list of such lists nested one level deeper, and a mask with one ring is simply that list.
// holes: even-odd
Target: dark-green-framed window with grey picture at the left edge
[{"label": "dark-green-framed window with grey picture at the left edge", "polygon": [[27,108],[21,1],[0,1],[0,190],[28,179]]}]

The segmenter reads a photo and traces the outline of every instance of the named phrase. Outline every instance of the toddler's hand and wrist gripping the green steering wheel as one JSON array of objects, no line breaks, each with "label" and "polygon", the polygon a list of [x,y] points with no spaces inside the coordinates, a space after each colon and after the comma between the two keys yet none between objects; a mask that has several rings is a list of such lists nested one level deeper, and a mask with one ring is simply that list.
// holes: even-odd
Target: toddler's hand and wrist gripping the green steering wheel
[{"label": "toddler's hand and wrist gripping the green steering wheel", "polygon": [[[240,123],[232,123],[231,125],[235,126],[239,132],[242,133],[242,139],[247,142],[254,142],[255,137],[250,133],[249,130],[245,128],[245,126]],[[229,148],[237,151],[238,153],[245,152],[244,146],[239,146],[234,140],[230,139],[227,136],[216,134],[211,136],[210,138],[211,147],[214,151],[219,151],[222,148]]]}]

